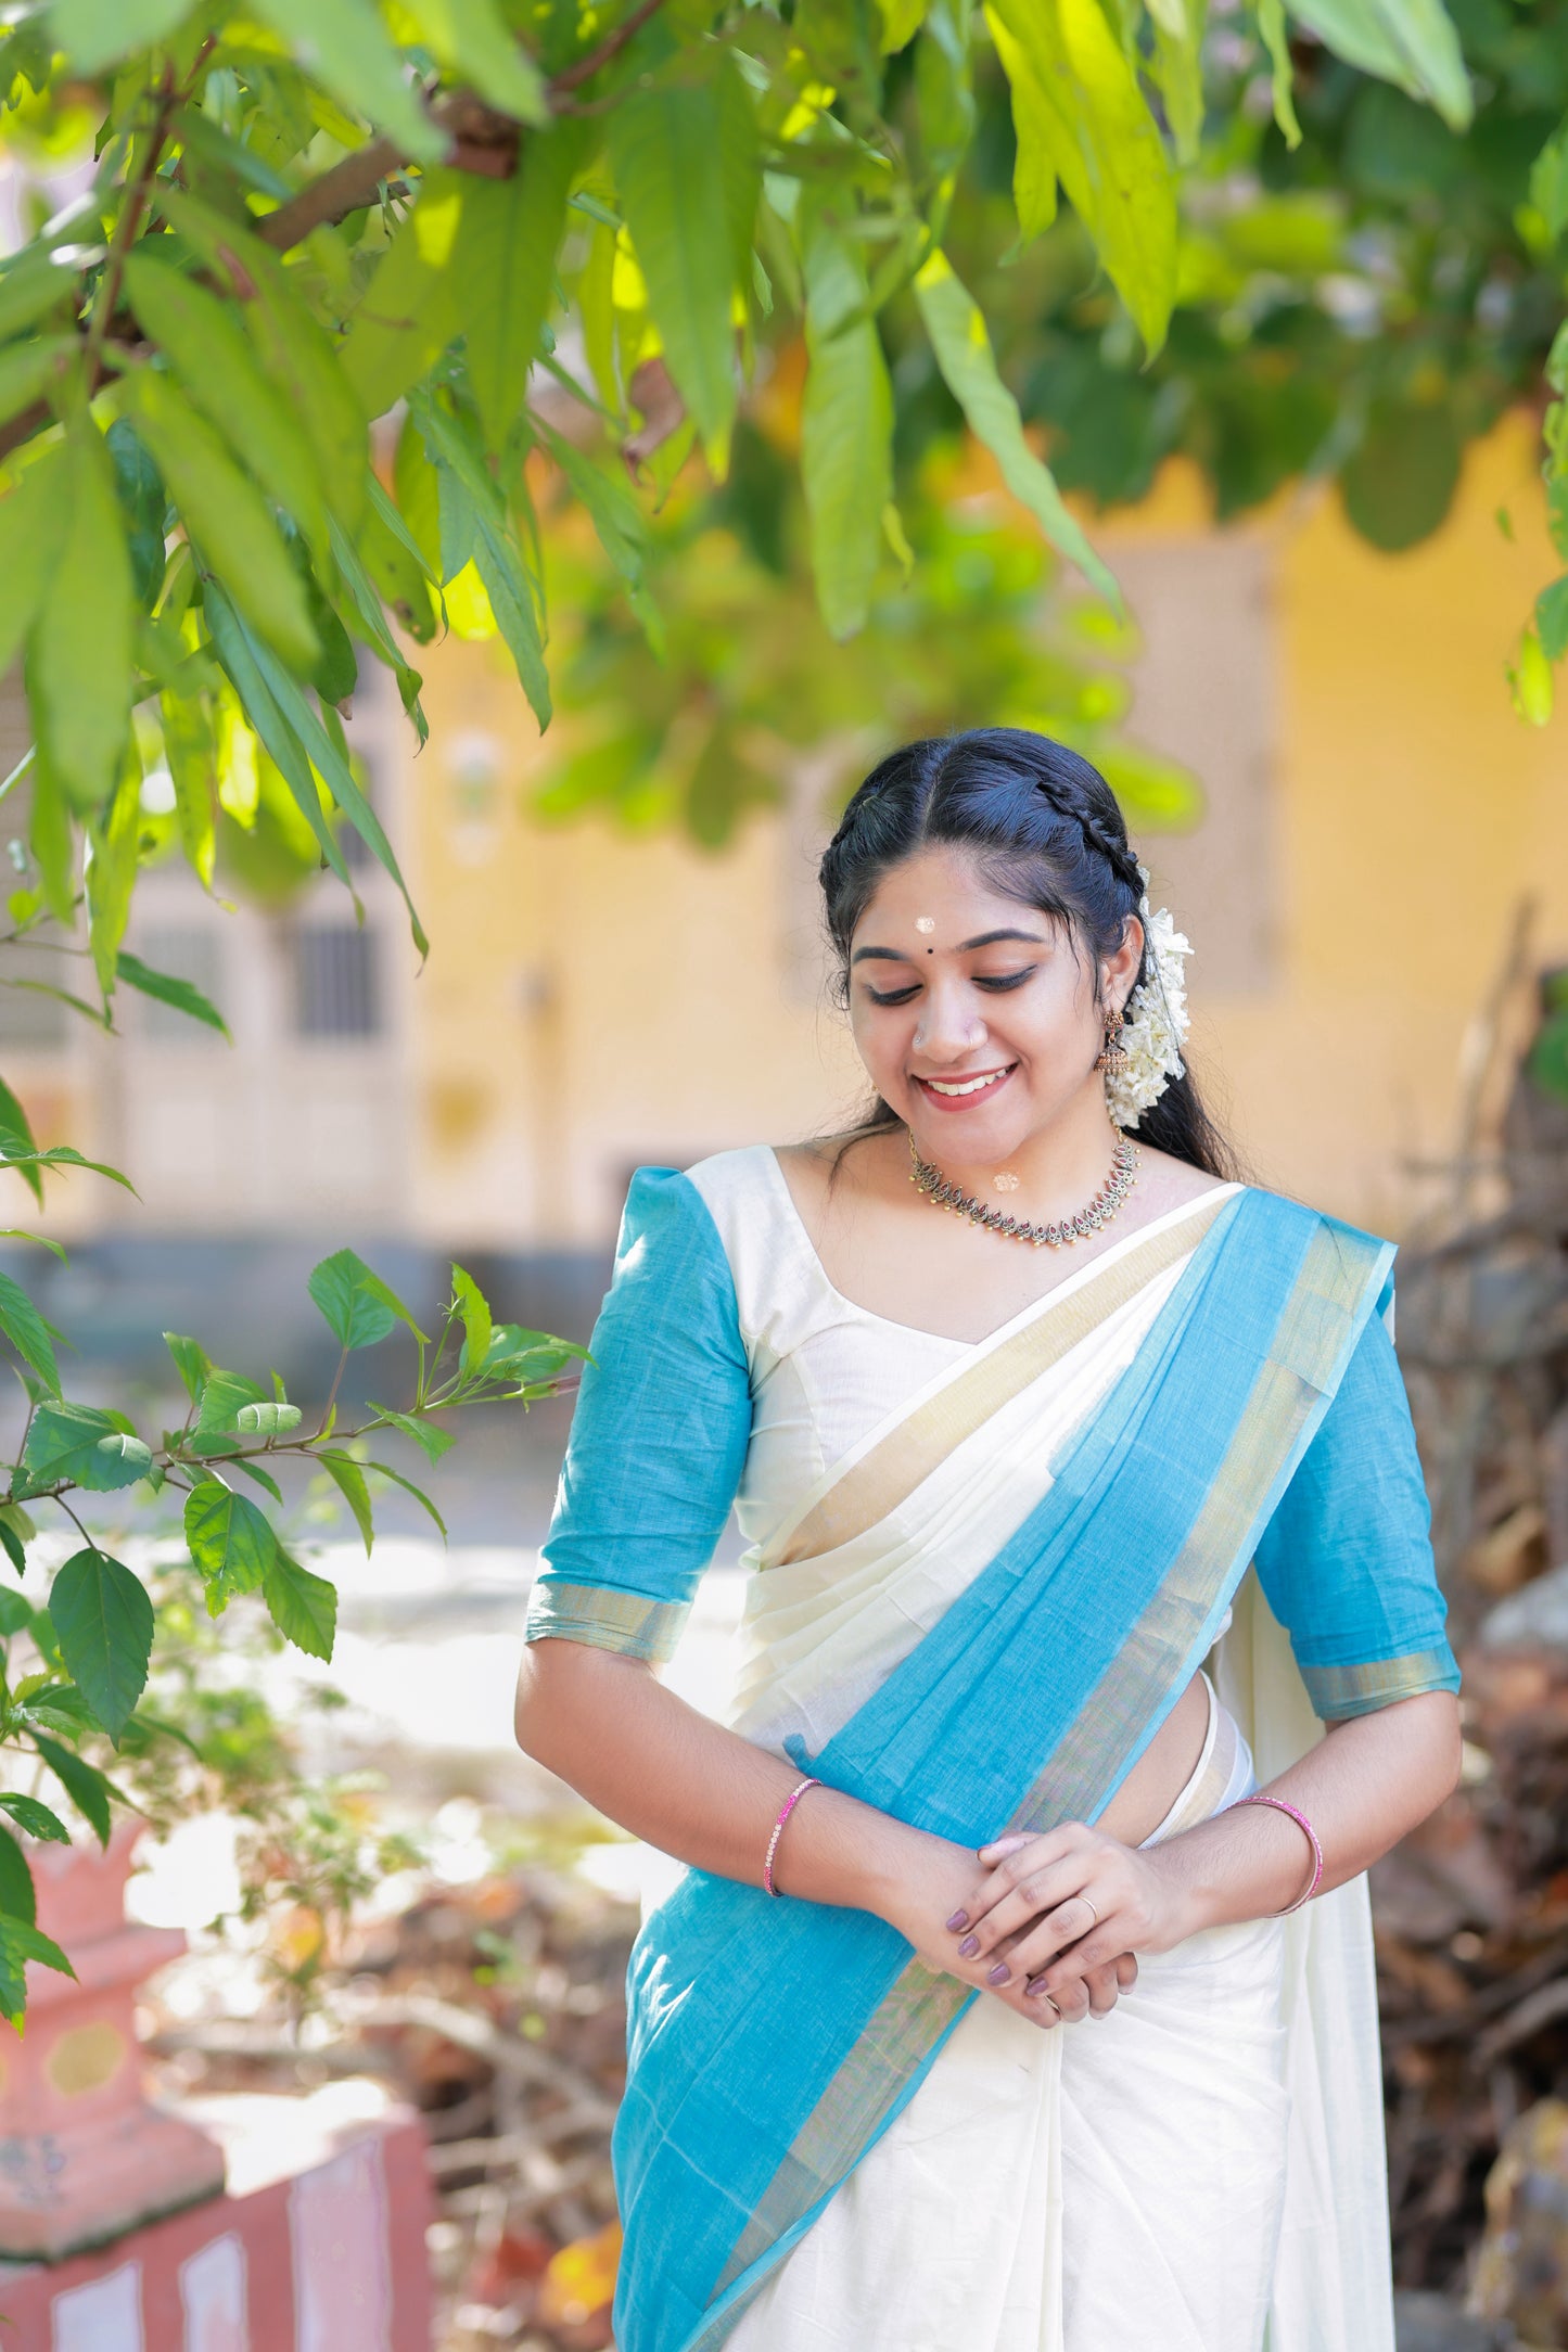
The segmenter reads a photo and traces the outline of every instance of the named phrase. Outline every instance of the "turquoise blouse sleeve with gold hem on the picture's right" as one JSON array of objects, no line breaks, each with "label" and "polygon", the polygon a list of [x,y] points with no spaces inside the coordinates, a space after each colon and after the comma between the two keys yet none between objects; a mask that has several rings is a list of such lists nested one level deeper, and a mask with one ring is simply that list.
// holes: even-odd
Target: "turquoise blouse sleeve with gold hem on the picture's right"
[{"label": "turquoise blouse sleeve with gold hem on the picture's right", "polygon": [[1324,1722],[1458,1691],[1394,1341],[1373,1312],[1255,1552]]}]

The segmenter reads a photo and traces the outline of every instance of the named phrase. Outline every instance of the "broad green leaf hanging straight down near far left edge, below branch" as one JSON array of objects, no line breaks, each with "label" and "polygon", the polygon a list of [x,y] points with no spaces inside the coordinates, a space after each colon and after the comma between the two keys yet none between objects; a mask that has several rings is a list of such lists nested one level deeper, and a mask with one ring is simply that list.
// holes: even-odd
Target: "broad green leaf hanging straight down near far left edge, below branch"
[{"label": "broad green leaf hanging straight down near far left edge, below branch", "polygon": [[78,809],[115,783],[129,727],[132,560],[103,435],[66,445],[66,539],[33,628],[28,687],[49,764]]}]

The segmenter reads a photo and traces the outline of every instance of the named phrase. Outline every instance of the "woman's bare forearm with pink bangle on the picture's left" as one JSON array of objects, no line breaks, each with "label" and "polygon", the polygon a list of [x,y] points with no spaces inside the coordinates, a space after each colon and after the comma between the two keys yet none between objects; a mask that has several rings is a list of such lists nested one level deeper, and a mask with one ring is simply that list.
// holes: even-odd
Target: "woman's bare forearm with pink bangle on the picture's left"
[{"label": "woman's bare forearm with pink bangle on the picture's left", "polygon": [[[762,1886],[778,1811],[802,1778],[698,1715],[646,1665],[581,1642],[536,1642],[517,1682],[517,1740],[599,1813],[696,1870]],[[813,1788],[773,1856],[773,1882],[813,1903],[877,1910],[922,1832]]]}]

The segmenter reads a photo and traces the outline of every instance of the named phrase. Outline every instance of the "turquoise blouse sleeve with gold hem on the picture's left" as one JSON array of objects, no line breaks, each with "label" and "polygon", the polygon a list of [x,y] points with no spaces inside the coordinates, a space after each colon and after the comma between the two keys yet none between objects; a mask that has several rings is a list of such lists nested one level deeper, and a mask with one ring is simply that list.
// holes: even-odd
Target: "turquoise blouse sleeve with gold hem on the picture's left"
[{"label": "turquoise blouse sleeve with gold hem on the picture's left", "polygon": [[663,1661],[752,1432],[736,1291],[686,1176],[639,1169],[590,1341],[527,1639]]}]

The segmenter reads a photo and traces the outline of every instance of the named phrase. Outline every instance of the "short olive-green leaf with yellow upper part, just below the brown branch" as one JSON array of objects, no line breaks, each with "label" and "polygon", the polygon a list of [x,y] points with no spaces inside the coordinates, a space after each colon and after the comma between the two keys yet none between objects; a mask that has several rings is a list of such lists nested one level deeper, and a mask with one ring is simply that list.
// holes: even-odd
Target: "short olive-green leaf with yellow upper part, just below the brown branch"
[{"label": "short olive-green leaf with yellow upper part, just below the brown branch", "polygon": [[482,186],[463,172],[425,172],[381,256],[341,346],[343,381],[364,416],[383,416],[402,400],[461,332],[454,256],[463,205]]}]

